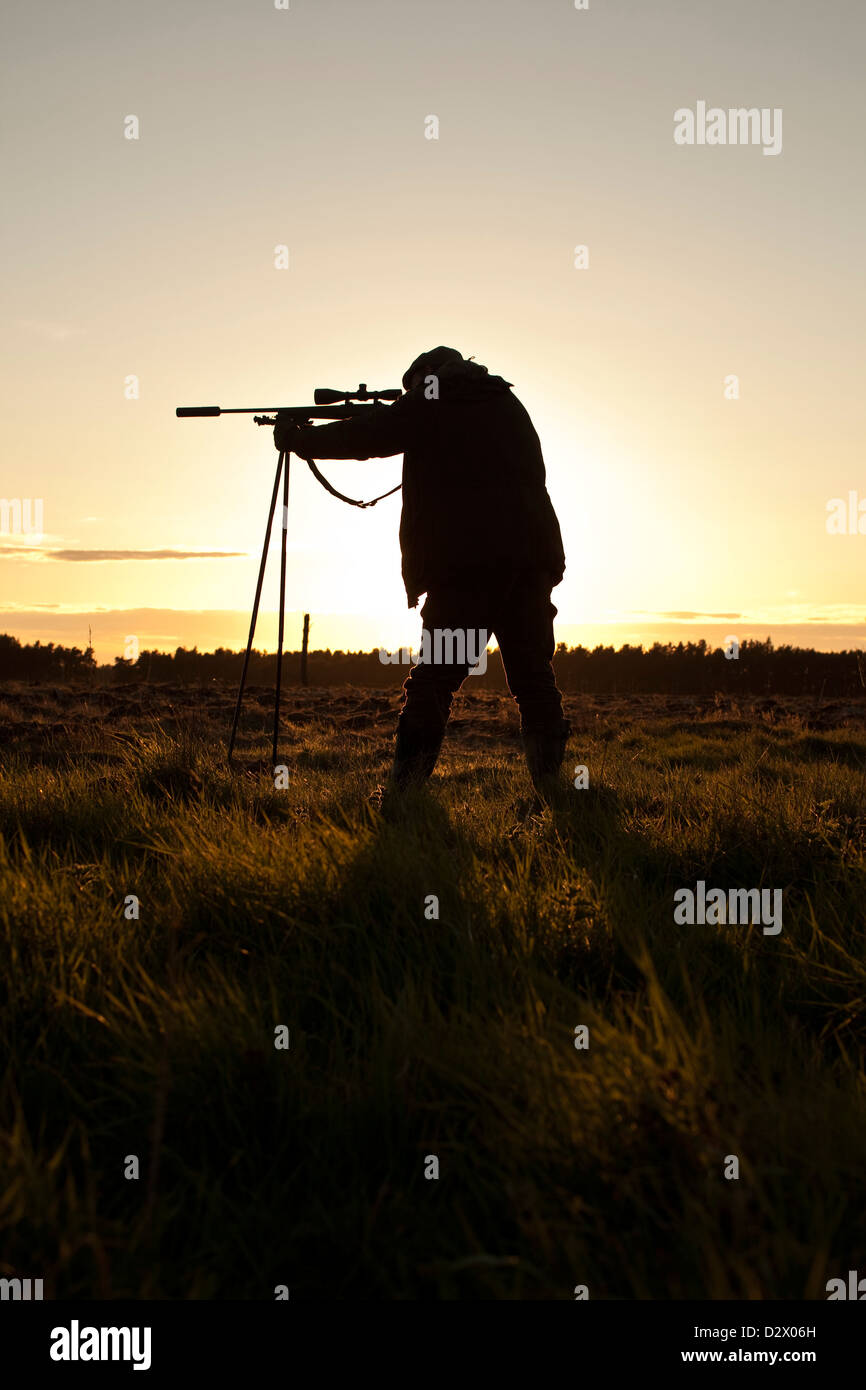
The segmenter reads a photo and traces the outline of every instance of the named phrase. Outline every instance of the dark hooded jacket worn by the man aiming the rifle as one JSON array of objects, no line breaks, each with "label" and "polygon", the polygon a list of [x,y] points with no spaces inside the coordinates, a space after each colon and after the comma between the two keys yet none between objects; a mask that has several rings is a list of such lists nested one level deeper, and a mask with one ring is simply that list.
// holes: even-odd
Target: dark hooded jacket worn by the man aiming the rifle
[{"label": "dark hooded jacket worn by the man aiming the rifle", "polygon": [[435,384],[428,375],[392,406],[307,425],[295,452],[310,459],[403,455],[400,550],[410,607],[464,570],[541,570],[552,587],[563,577],[538,435],[510,382],[478,363],[456,357],[436,368]]}]

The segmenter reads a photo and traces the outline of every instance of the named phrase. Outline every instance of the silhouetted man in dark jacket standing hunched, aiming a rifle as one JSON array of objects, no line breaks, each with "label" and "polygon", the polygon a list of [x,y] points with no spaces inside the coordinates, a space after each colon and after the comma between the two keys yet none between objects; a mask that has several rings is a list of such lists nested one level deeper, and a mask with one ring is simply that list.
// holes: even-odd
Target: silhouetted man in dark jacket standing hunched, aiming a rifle
[{"label": "silhouetted man in dark jacket standing hunched, aiming a rifle", "polygon": [[[392,785],[434,770],[452,698],[470,660],[442,651],[436,632],[493,632],[520,708],[527,766],[549,795],[570,726],[550,660],[556,609],[550,589],[566,559],[545,486],[538,435],[510,382],[466,361],[455,348],[416,357],[406,395],[354,420],[278,423],[274,442],[302,459],[403,459],[400,549],[409,606],[421,609],[430,655],[403,685]],[[475,646],[474,657],[484,651]],[[445,660],[442,656],[445,655]],[[457,653],[459,655],[459,653]]]}]

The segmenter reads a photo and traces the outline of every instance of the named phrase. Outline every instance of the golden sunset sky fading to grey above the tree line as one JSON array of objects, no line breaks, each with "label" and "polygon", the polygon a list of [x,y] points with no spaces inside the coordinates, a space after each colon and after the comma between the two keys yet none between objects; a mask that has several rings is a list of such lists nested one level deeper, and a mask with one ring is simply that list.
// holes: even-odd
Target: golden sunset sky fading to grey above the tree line
[{"label": "golden sunset sky fading to grey above the tree line", "polygon": [[[0,631],[242,646],[271,435],[175,406],[399,386],[446,343],[541,436],[560,641],[866,645],[866,534],[826,525],[866,503],[860,3],[4,13],[0,495],[44,535],[0,535]],[[781,108],[781,152],[677,145],[701,100]],[[399,467],[322,466],[354,496]],[[289,648],[304,610],[314,648],[417,642],[398,518],[293,464]]]}]

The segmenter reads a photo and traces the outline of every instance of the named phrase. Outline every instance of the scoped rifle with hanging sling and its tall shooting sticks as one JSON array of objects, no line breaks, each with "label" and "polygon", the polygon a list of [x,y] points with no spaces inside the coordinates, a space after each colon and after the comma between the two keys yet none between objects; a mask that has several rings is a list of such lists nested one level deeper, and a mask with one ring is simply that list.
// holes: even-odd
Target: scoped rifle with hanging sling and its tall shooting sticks
[{"label": "scoped rifle with hanging sling and its tall shooting sticks", "polygon": [[[364,414],[367,410],[373,410],[378,404],[385,402],[399,400],[402,396],[400,391],[367,391],[364,382],[360,384],[357,391],[331,391],[328,386],[320,386],[314,391],[313,399],[314,406],[238,406],[228,410],[222,410],[220,406],[178,406],[175,414],[181,420],[193,420],[214,416],[253,416],[257,425],[277,425],[284,421],[291,421],[295,425],[307,425],[313,420],[350,420],[353,416]],[[277,638],[277,682],[274,692],[274,742],[272,742],[272,763],[277,764],[277,741],[279,737],[279,695],[282,688],[282,638],[285,626],[285,573],[286,573],[286,528],[288,528],[288,509],[289,509],[289,450],[279,455],[277,461],[277,477],[274,478],[274,491],[271,493],[271,506],[268,510],[268,524],[264,532],[264,545],[261,548],[261,564],[259,566],[259,580],[256,584],[256,598],[253,599],[253,612],[250,617],[250,635],[246,642],[246,655],[243,657],[243,669],[240,671],[240,685],[238,687],[238,702],[235,705],[235,717],[232,721],[232,733],[228,744],[228,762],[232,762],[232,753],[235,751],[235,738],[238,734],[238,720],[240,719],[240,702],[243,699],[243,689],[246,685],[246,673],[250,663],[250,652],[253,649],[253,638],[256,635],[256,621],[259,619],[259,600],[261,598],[261,585],[264,581],[264,567],[267,562],[268,546],[271,543],[271,528],[274,525],[274,512],[277,510],[277,495],[279,492],[279,480],[282,477],[282,525],[281,525],[281,546],[279,546],[279,632]],[[353,507],[374,507],[377,502],[382,498],[389,498],[393,492],[400,491],[400,484],[396,488],[391,488],[388,492],[382,492],[378,498],[373,498],[370,502],[359,502],[356,498],[348,498],[345,493],[338,492],[336,488],[331,486],[328,480],[318,471],[311,459],[304,459],[304,463],[310,468],[313,477],[321,482],[322,488],[334,498],[339,498],[341,502],[348,502]]]}]

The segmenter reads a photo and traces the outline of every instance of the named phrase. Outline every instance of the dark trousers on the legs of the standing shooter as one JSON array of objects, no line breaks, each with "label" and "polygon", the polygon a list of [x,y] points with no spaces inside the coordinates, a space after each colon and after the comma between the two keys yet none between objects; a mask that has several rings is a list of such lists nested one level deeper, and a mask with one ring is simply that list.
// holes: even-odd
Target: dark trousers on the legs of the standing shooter
[{"label": "dark trousers on the legs of the standing shooter", "polygon": [[[499,644],[509,689],[520,709],[524,735],[559,735],[567,730],[562,695],[550,664],[555,651],[550,578],[539,571],[467,571],[432,587],[421,609],[424,630],[431,634],[430,659],[411,669],[403,684],[406,699],[398,721],[398,746],[430,745],[442,739],[452,699],[468,676],[468,662],[449,660],[456,644],[441,642],[438,632],[471,631],[478,646],[478,630]],[[421,649],[424,657],[424,649]]]}]

